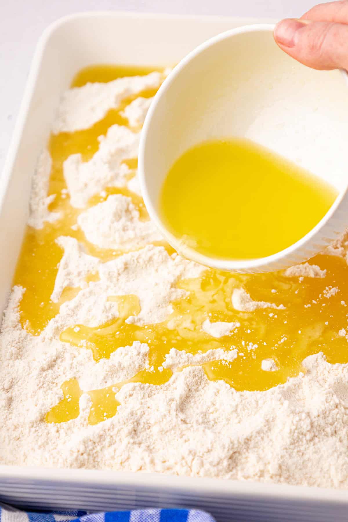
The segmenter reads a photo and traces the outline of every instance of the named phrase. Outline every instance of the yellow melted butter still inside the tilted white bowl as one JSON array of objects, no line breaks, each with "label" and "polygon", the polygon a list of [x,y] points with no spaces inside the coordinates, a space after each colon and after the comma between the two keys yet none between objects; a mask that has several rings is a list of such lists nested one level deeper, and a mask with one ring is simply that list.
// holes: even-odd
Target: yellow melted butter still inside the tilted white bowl
[{"label": "yellow melted butter still inside the tilted white bowl", "polygon": [[167,173],[160,209],[183,245],[220,259],[277,254],[303,238],[337,191],[247,139],[206,141]]}]

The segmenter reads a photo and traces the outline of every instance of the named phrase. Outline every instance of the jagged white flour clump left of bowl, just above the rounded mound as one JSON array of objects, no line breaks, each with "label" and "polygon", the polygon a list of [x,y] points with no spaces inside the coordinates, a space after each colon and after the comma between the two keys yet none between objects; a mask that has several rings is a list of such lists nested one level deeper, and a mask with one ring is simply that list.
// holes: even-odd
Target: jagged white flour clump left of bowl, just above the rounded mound
[{"label": "jagged white flour clump left of bowl, just above the rounded mound", "polygon": [[124,160],[137,157],[139,137],[139,133],[127,127],[112,125],[106,136],[99,136],[99,149],[90,161],[82,161],[80,154],[64,161],[64,177],[73,207],[86,207],[88,200],[106,187],[127,184],[130,170]]}]

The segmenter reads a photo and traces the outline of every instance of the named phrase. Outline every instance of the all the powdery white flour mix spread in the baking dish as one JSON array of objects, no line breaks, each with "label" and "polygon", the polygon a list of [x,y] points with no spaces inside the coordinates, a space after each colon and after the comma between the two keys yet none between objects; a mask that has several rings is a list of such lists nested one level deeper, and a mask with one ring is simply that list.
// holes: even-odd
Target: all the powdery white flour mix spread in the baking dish
[{"label": "all the powdery white flour mix spread in the baking dish", "polygon": [[[68,91],[58,110],[55,132],[90,126],[123,98],[146,86],[158,86],[161,78],[154,73]],[[132,127],[141,124],[147,105],[140,99],[124,110]],[[107,186],[130,188],[133,182],[136,187],[136,177],[128,180],[129,168],[122,162],[136,156],[138,140],[137,133],[114,125],[100,139],[99,151],[90,161],[70,156],[64,175],[71,204],[85,208],[90,197]],[[45,152],[30,202],[29,222],[36,228],[57,219],[47,210],[52,199],[47,198],[49,166]],[[115,389],[120,402],[117,414],[90,425],[87,392],[114,386],[149,367],[149,346],[135,341],[118,348],[110,359],[95,362],[91,350],[59,340],[61,332],[78,324],[99,326],[117,317],[118,304],[109,298],[127,294],[137,295],[140,303],[140,313],[128,317],[128,323],[160,323],[172,312],[171,302],[187,295],[177,288],[178,281],[196,278],[204,268],[169,255],[163,247],[142,247],[160,236],[150,221],[139,219],[137,209],[124,196],[112,195],[105,203],[86,208],[78,226],[99,248],[132,251],[103,263],[88,255],[76,239],[58,238],[63,257],[52,300],[57,302],[65,288],[81,290],[61,305],[39,336],[22,329],[18,305],[25,289],[14,288],[0,335],[1,464],[159,471],[348,488],[348,365],[331,365],[322,353],[308,357],[304,361],[307,373],[284,385],[266,392],[236,392],[223,381],[209,381],[199,365],[233,362],[242,357],[237,349],[191,354],[173,347],[163,361],[163,369],[174,372],[169,382],[161,386],[132,383],[119,392]],[[345,246],[339,240],[327,252],[345,257]],[[90,274],[97,274],[99,280],[87,283]],[[285,275],[325,278],[326,271],[305,264],[286,270]],[[336,287],[328,286],[325,295],[329,298],[335,291]],[[243,288],[234,289],[232,304],[243,314],[284,309],[253,301]],[[213,342],[233,336],[242,327],[242,319],[240,323],[206,319],[201,325]],[[339,335],[347,336],[346,329]],[[187,367],[182,370],[183,366]],[[264,359],[261,369],[275,372],[277,362]],[[47,411],[63,398],[61,384],[73,378],[82,390],[79,417],[61,424],[45,423]]]}]

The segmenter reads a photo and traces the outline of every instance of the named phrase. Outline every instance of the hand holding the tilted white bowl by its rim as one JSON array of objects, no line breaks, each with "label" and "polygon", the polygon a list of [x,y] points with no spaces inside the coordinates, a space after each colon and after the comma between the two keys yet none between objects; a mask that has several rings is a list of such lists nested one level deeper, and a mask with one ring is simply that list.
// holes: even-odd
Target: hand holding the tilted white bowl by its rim
[{"label": "hand holding the tilted white bowl by its rim", "polygon": [[299,19],[281,20],[274,40],[314,69],[348,69],[348,1],[319,4]]}]

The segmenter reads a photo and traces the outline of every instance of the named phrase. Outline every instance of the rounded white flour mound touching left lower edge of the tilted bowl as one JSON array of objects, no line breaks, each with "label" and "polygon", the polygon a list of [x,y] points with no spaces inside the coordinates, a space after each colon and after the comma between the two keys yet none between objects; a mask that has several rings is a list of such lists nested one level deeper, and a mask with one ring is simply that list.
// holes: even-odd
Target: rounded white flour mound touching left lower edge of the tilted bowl
[{"label": "rounded white flour mound touching left lower edge of the tilted bowl", "polygon": [[100,248],[132,250],[163,240],[152,221],[140,221],[131,199],[121,194],[83,212],[77,222],[88,241]]}]

